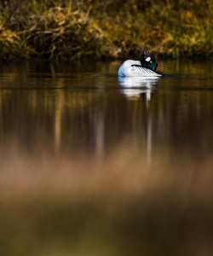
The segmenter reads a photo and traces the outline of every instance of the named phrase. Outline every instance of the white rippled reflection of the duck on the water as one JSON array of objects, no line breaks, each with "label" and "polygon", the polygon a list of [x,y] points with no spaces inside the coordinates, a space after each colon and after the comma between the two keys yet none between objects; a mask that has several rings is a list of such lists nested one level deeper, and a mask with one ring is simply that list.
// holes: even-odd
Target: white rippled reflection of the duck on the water
[{"label": "white rippled reflection of the duck on the water", "polygon": [[151,94],[157,90],[159,77],[118,77],[121,92],[130,99],[137,99],[145,95],[147,102]]}]

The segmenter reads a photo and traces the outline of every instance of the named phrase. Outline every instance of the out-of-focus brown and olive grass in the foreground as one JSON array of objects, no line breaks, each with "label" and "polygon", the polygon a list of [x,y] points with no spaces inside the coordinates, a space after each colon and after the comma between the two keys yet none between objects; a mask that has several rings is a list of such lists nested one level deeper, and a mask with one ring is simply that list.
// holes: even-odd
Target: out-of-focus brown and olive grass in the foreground
[{"label": "out-of-focus brown and olive grass in the foreground", "polygon": [[127,148],[101,161],[10,148],[1,255],[211,255],[212,160],[155,154],[148,164]]}]

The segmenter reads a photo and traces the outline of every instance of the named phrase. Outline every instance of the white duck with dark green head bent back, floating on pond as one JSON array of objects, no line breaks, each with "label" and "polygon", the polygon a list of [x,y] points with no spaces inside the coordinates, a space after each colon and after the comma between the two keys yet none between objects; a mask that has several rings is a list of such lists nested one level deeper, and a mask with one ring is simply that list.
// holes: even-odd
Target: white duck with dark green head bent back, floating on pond
[{"label": "white duck with dark green head bent back, floating on pond", "polygon": [[164,73],[157,71],[158,63],[149,54],[147,49],[143,50],[140,61],[127,60],[119,67],[119,77],[161,77]]}]

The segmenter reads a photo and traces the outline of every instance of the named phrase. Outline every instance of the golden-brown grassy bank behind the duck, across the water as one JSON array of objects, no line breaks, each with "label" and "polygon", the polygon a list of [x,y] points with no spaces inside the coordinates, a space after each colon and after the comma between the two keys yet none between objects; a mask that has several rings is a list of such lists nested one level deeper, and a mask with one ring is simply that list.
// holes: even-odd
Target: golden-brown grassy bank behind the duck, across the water
[{"label": "golden-brown grassy bank behind the duck, across the water", "polygon": [[212,55],[212,1],[1,1],[2,59]]}]

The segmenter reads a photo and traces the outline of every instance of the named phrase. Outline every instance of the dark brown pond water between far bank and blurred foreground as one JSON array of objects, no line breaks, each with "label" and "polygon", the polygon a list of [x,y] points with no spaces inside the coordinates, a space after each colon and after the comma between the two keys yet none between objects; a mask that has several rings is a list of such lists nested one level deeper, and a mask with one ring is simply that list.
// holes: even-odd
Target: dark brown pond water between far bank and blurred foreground
[{"label": "dark brown pond water between far bank and blurred foreground", "polygon": [[157,80],[118,80],[119,65],[3,65],[0,147],[103,156],[128,139],[147,154],[212,152],[210,63],[162,61],[159,69],[174,76]]}]

